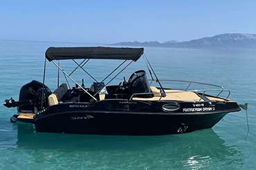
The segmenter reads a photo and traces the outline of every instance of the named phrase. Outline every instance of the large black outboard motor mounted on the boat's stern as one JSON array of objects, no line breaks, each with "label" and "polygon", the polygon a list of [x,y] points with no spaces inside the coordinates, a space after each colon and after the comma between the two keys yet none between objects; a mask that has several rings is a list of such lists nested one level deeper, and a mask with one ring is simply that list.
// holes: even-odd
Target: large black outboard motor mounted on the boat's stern
[{"label": "large black outboard motor mounted on the boat's stern", "polygon": [[[18,112],[34,111],[35,107],[39,110],[41,108],[42,92],[44,92],[43,100],[46,100],[51,94],[51,90],[46,85],[44,85],[43,90],[43,83],[39,81],[31,81],[21,87],[19,91],[19,101],[10,98],[9,100],[6,100],[4,105],[6,107],[17,107]],[[46,104],[47,103],[44,101],[44,106]]]}]

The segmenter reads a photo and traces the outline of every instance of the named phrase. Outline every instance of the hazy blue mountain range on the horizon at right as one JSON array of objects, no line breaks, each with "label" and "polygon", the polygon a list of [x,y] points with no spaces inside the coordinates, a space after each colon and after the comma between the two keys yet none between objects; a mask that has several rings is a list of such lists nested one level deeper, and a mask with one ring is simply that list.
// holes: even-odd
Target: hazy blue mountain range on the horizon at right
[{"label": "hazy blue mountain range on the horizon at right", "polygon": [[212,37],[202,39],[194,39],[191,41],[167,41],[159,43],[158,41],[149,41],[140,43],[121,42],[112,45],[122,46],[140,46],[140,47],[180,47],[180,48],[211,48],[211,47],[247,47],[256,48],[256,34],[219,34]]}]

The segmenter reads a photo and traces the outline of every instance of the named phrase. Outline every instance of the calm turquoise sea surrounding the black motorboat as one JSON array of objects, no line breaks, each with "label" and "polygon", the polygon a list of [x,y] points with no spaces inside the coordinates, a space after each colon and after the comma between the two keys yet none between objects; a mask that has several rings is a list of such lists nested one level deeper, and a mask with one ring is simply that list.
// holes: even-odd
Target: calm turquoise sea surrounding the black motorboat
[{"label": "calm turquoise sea surrounding the black motorboat", "polygon": [[[10,123],[17,109],[4,107],[3,101],[11,96],[18,100],[22,85],[43,81],[44,52],[51,46],[94,45],[0,41],[0,169],[256,169],[256,50],[145,47],[158,78],[221,85],[237,103],[248,102],[249,131],[242,110],[212,129],[189,134],[98,136],[39,133],[33,125]],[[119,63],[91,60],[85,69],[101,79]],[[75,66],[60,65],[68,73]],[[143,59],[112,83],[141,69],[147,70]],[[54,90],[57,67],[47,61],[46,70],[46,85]],[[73,76],[79,83],[84,78],[89,87],[93,81],[82,73],[77,70]],[[63,76],[60,80],[65,81]]]}]

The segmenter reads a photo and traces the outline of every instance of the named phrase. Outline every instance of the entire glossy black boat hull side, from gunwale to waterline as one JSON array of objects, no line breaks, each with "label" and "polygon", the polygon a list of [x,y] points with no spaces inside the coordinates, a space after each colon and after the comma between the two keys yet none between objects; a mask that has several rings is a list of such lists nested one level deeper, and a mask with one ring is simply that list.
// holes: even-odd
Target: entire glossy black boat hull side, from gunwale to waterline
[{"label": "entire glossy black boat hull side, from gunwale to waterline", "polygon": [[[190,108],[192,103],[179,103],[181,107],[176,111],[163,111],[163,105],[166,104],[168,102],[149,104],[140,101],[120,103],[109,100],[104,103],[99,102],[97,105],[88,103],[56,105],[49,107],[42,114],[37,114],[35,129],[71,134],[135,136],[181,134],[211,128],[228,112],[240,110],[237,103],[214,103],[214,107],[205,103],[204,107],[196,107],[196,109]],[[136,109],[137,107],[140,109]],[[214,109],[205,111],[204,108]]]}]

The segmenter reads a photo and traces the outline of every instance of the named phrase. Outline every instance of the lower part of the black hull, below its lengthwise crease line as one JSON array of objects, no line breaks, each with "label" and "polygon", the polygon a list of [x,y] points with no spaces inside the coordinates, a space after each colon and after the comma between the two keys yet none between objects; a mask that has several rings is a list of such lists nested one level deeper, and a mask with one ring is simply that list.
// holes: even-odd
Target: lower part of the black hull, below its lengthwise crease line
[{"label": "lower part of the black hull, below its lengthwise crease line", "polygon": [[[35,121],[43,132],[102,135],[165,135],[208,129],[226,113],[201,115],[66,113]],[[71,118],[78,118],[71,120]]]}]

